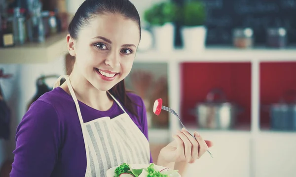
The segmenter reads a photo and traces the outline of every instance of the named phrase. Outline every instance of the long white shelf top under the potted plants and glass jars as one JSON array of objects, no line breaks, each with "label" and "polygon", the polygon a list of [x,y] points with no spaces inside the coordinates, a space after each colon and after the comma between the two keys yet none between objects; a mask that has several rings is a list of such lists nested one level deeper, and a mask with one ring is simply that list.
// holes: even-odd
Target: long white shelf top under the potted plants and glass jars
[{"label": "long white shelf top under the potted plants and glass jars", "polygon": [[172,52],[156,50],[138,51],[136,62],[254,62],[254,61],[296,61],[296,47],[270,49],[256,47],[237,49],[225,46],[209,46],[201,53],[175,49]]}]

